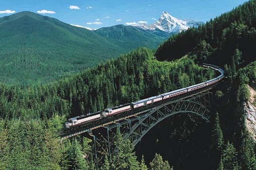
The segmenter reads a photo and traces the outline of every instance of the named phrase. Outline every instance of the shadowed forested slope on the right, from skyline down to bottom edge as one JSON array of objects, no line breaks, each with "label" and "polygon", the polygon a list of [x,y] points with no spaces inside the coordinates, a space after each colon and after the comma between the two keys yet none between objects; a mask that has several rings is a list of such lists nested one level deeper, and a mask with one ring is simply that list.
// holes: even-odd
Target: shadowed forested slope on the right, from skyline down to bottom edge
[{"label": "shadowed forested slope on the right, from skyline down to bottom edge", "polygon": [[195,62],[225,67],[227,79],[215,93],[214,112],[219,114],[212,124],[207,169],[256,168],[256,143],[244,122],[248,84],[255,88],[256,82],[255,47],[256,1],[250,0],[197,29],[171,36],[156,52],[159,60],[187,55]]}]

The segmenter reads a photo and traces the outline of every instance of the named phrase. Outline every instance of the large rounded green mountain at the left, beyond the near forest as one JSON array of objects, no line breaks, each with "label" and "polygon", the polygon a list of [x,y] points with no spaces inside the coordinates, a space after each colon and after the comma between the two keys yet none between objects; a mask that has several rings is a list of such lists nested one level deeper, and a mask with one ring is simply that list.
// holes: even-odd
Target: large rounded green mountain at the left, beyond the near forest
[{"label": "large rounded green mountain at the left, beyond the near forest", "polygon": [[[138,36],[136,45],[132,43],[134,34]],[[153,38],[150,39],[150,36]],[[125,38],[131,42],[130,45],[123,45]],[[157,47],[158,42],[162,41],[154,35],[142,34],[139,29],[133,29],[125,38],[110,39],[29,11],[2,17],[0,82],[49,82],[138,46]]]}]

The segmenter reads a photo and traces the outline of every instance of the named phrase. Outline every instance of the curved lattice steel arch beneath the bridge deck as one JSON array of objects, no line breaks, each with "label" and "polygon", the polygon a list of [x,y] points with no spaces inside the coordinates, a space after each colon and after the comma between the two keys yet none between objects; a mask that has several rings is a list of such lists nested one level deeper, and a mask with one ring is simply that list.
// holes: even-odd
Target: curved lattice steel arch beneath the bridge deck
[{"label": "curved lattice steel arch beneath the bridge deck", "polygon": [[210,117],[209,109],[202,103],[191,100],[171,101],[154,108],[143,118],[139,118],[138,122],[130,127],[130,131],[124,135],[124,138],[129,138],[134,145],[137,145],[154,126],[177,114],[194,114],[206,122],[209,122]]}]

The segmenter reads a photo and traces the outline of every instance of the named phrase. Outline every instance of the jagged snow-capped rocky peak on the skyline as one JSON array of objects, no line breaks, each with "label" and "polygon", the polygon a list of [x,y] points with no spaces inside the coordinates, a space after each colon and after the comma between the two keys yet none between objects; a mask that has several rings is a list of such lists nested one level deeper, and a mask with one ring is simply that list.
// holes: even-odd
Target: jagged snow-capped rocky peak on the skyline
[{"label": "jagged snow-capped rocky peak on the skyline", "polygon": [[152,23],[151,25],[140,24],[137,25],[137,27],[144,30],[160,30],[171,34],[176,34],[189,29],[189,27],[198,27],[202,24],[202,21],[195,21],[193,19],[177,19],[164,11],[156,23]]}]

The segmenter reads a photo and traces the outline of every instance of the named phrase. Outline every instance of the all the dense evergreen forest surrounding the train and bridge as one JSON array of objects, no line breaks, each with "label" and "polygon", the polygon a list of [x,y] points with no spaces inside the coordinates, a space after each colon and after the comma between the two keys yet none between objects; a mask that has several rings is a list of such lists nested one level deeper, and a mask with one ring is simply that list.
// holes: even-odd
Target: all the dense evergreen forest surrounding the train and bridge
[{"label": "all the dense evergreen forest surrounding the train and bridge", "polygon": [[[78,136],[60,142],[57,134],[67,118],[206,81],[215,72],[196,63],[211,62],[223,66],[226,79],[214,91],[210,124],[201,127],[210,134],[193,134],[198,128],[183,117],[177,119],[184,120],[179,121],[182,126],[173,124],[170,132],[177,144],[193,141],[196,135],[197,140],[206,138],[206,149],[195,141],[181,143],[178,159],[168,162],[156,153],[148,161],[143,154],[136,156],[131,141],[117,130],[118,152],[112,162],[106,156],[101,169],[182,169],[189,162],[184,158],[203,153],[204,166],[198,164],[198,169],[254,170],[256,144],[245,126],[243,107],[250,97],[248,86],[256,82],[255,4],[251,0],[198,29],[172,36],[156,53],[138,48],[46,84],[0,84],[0,169],[94,170],[90,139]],[[191,146],[195,152],[189,153],[186,147]]]}]

